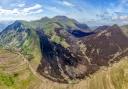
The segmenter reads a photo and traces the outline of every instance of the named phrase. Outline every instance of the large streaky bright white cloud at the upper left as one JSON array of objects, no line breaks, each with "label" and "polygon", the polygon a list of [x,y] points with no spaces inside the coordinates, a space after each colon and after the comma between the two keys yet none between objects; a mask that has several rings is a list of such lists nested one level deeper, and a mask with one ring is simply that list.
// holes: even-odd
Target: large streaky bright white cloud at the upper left
[{"label": "large streaky bright white cloud at the upper left", "polygon": [[[0,8],[0,17],[3,18],[9,18],[11,19],[20,19],[20,18],[26,18],[26,17],[31,17],[31,15],[38,15],[43,12],[42,6],[40,4],[35,4],[34,6],[31,7],[18,7],[18,8],[13,8],[13,9],[5,9],[5,8]],[[19,18],[20,17],[20,18]],[[0,18],[3,19],[3,18]]]}]

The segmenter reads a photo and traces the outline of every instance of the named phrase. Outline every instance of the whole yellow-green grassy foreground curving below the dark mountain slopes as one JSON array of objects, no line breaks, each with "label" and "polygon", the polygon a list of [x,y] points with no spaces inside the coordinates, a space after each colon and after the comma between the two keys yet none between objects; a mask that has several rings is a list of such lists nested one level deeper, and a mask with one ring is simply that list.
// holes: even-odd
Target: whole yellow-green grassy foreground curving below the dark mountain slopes
[{"label": "whole yellow-green grassy foreground curving below the dark mountain slopes", "polygon": [[60,84],[33,71],[25,58],[0,49],[0,89],[128,89],[128,57],[77,84]]}]

